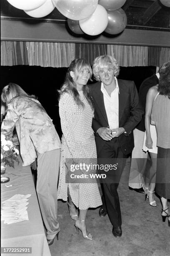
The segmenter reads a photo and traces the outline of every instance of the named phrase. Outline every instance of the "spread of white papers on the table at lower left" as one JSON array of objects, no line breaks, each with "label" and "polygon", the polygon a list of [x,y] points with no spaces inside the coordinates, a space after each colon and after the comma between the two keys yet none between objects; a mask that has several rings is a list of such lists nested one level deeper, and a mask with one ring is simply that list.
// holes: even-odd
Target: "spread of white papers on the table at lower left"
[{"label": "spread of white papers on the table at lower left", "polygon": [[1,220],[4,223],[11,224],[28,219],[27,205],[29,204],[28,198],[31,195],[14,195],[2,202],[1,207]]}]

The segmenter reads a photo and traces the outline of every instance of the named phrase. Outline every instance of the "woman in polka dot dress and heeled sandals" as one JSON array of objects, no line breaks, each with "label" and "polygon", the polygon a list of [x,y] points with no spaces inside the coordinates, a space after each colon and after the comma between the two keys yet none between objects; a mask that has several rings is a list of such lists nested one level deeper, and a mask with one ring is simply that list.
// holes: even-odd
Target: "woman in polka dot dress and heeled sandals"
[{"label": "woman in polka dot dress and heeled sandals", "polygon": [[67,201],[68,197],[70,217],[75,220],[77,233],[81,230],[83,238],[88,240],[93,238],[86,229],[87,209],[102,205],[100,192],[96,180],[90,182],[87,170],[80,168],[77,171],[78,174],[84,174],[82,179],[70,177],[75,177],[75,164],[79,163],[80,166],[80,162],[97,162],[95,137],[91,128],[94,110],[87,87],[91,76],[90,64],[84,59],[75,59],[70,64],[60,90],[59,113],[63,135],[57,192],[58,199]]}]

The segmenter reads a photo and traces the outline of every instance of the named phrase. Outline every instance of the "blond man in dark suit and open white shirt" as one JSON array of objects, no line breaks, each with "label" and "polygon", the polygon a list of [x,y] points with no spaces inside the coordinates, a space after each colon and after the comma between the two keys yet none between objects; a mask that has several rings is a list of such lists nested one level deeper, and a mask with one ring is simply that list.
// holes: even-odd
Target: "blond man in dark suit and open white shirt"
[{"label": "blond man in dark suit and open white shirt", "polygon": [[98,164],[117,165],[116,170],[105,172],[107,178],[101,180],[103,205],[99,215],[105,216],[108,213],[113,226],[112,233],[115,237],[120,237],[122,220],[117,187],[125,158],[134,147],[133,129],[140,122],[143,111],[134,82],[116,79],[119,67],[115,58],[107,55],[97,57],[93,73],[95,79],[100,81],[90,85],[95,109],[92,128]]}]

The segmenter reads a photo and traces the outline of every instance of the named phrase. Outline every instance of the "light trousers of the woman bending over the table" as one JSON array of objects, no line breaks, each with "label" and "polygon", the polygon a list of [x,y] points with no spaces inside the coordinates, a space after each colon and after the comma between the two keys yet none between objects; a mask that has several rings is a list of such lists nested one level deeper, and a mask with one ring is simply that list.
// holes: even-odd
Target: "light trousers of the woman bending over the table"
[{"label": "light trousers of the woman bending over the table", "polygon": [[60,166],[60,149],[37,156],[37,197],[47,234],[55,234],[57,222],[57,182]]}]

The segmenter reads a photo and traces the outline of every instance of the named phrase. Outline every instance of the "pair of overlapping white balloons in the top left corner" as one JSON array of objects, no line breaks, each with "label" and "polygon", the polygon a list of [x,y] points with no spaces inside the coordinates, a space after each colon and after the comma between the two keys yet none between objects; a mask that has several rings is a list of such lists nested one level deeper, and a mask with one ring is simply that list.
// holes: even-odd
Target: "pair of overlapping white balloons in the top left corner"
[{"label": "pair of overlapping white balloons in the top left corner", "polygon": [[52,0],[7,0],[14,7],[24,10],[34,18],[45,17],[50,14],[55,5]]}]

